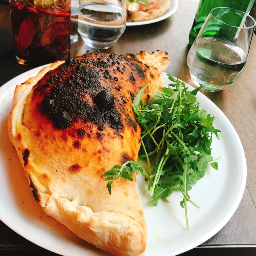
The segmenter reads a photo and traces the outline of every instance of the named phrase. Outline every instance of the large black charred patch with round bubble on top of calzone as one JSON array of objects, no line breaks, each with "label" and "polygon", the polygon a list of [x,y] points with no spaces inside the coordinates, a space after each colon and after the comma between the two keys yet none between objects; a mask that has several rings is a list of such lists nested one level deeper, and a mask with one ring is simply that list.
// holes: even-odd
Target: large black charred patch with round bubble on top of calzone
[{"label": "large black charred patch with round bubble on top of calzone", "polygon": [[[97,59],[89,58],[90,55],[97,56]],[[39,85],[42,87],[40,93],[44,95],[39,105],[41,113],[52,121],[56,129],[66,129],[79,120],[96,125],[99,131],[108,126],[115,130],[123,129],[115,97],[110,89],[108,91],[102,86],[102,80],[108,79],[111,84],[120,80],[111,76],[109,68],[111,63],[122,65],[120,63],[126,59],[116,54],[87,52],[82,59],[67,60],[60,65],[57,74],[53,74],[56,71],[48,73],[44,86]],[[120,68],[118,70],[122,72]],[[113,88],[115,91],[120,89],[119,84]],[[86,134],[89,133],[82,129],[77,131],[80,138]]]}]

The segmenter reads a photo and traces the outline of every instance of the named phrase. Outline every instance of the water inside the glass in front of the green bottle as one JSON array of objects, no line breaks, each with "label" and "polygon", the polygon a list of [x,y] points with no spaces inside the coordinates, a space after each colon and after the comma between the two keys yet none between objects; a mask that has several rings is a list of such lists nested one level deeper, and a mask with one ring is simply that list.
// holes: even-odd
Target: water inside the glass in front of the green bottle
[{"label": "water inside the glass in front of the green bottle", "polygon": [[219,91],[233,84],[240,76],[247,54],[234,43],[202,37],[193,44],[188,56],[189,73],[196,85]]}]

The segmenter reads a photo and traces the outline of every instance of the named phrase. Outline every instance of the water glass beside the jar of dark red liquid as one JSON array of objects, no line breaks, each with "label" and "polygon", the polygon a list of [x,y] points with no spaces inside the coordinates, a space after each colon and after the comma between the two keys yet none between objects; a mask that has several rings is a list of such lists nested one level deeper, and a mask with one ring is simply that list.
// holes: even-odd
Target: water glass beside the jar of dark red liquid
[{"label": "water glass beside the jar of dark red liquid", "polygon": [[80,0],[78,33],[95,49],[108,49],[126,28],[125,0]]}]

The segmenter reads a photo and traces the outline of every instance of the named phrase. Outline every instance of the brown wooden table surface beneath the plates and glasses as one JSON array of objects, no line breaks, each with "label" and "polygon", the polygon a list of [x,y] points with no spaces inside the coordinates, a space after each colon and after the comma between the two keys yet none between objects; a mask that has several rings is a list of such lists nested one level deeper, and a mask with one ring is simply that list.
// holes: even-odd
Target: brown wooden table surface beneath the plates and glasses
[{"label": "brown wooden table surface beneath the plates and glasses", "polygon": [[[169,53],[171,64],[166,72],[193,85],[188,73],[186,56],[188,53],[188,34],[193,22],[198,0],[179,0],[178,10],[168,19],[155,24],[127,27],[120,40],[106,52],[125,54],[141,50],[153,52],[162,50]],[[12,77],[30,69],[17,64],[12,52],[12,33],[9,6],[0,2],[0,85]],[[86,50],[81,40],[73,48],[73,55]],[[228,117],[238,133],[244,147],[247,161],[247,182],[243,198],[228,223],[211,239],[197,248],[185,252],[190,255],[196,251],[201,255],[233,253],[233,255],[256,255],[256,35],[253,35],[249,57],[240,79],[221,92],[204,92]],[[228,189],[228,188],[227,188]],[[2,207],[0,206],[0,211]],[[26,254],[43,251],[0,222],[0,254],[26,250]],[[15,251],[16,250],[16,251]],[[9,254],[8,254],[9,253]]]}]

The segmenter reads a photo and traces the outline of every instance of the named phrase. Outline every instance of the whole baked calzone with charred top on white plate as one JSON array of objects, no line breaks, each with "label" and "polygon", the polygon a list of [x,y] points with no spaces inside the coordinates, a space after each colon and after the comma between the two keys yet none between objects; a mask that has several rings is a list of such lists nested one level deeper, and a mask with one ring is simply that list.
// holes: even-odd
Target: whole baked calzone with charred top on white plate
[{"label": "whole baked calzone with charred top on white plate", "polygon": [[90,53],[56,61],[17,85],[9,138],[33,196],[44,212],[77,236],[113,255],[137,256],[147,226],[136,184],[119,178],[106,188],[103,173],[137,161],[140,127],[132,100],[161,89],[166,52]]}]

